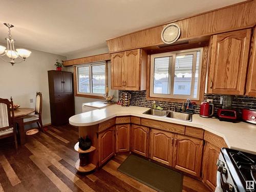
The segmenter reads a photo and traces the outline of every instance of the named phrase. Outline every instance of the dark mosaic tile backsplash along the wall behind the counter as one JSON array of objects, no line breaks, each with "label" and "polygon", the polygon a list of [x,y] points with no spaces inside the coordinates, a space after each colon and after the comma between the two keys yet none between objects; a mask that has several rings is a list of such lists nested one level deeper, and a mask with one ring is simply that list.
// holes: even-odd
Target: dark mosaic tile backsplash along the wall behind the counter
[{"label": "dark mosaic tile backsplash along the wall behind the counter", "polygon": [[[124,91],[119,91],[119,98],[122,97],[122,92]],[[135,106],[145,106],[147,108],[152,107],[152,100],[147,100],[146,99],[146,91],[125,91],[131,93],[131,105]],[[221,108],[222,104],[220,104],[220,97],[221,95],[213,95],[213,94],[205,94],[204,95],[204,100],[206,99],[212,99],[213,103],[215,105],[215,112],[217,113],[217,109]],[[157,101],[156,100],[157,106],[162,106],[165,110],[168,109],[168,106],[170,106],[170,110],[174,110],[174,106],[176,106],[176,109],[179,109],[181,104],[180,102],[165,102],[165,101]],[[237,109],[240,111],[243,108],[248,108],[248,109],[256,109],[256,98],[255,97],[248,97],[248,96],[241,96],[241,95],[236,95],[233,97],[232,101],[232,108]],[[194,106],[195,113],[199,113],[200,111],[200,105],[195,105]]]}]

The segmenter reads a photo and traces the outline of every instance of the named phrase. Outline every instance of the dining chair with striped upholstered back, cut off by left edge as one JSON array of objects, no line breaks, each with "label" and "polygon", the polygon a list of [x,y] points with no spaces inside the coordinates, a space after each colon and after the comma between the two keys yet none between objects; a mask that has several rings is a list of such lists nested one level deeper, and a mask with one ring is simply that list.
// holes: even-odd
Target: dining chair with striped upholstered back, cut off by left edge
[{"label": "dining chair with striped upholstered back, cut off by left edge", "polygon": [[18,144],[16,134],[12,98],[11,101],[0,98],[0,139],[13,136],[15,147],[17,149]]}]

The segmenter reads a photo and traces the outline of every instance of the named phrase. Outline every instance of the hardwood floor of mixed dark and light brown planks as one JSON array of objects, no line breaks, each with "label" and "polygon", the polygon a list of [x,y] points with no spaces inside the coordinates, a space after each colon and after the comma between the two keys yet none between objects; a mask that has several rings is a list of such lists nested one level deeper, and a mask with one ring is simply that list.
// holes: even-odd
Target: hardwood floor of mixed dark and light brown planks
[{"label": "hardwood floor of mixed dark and light brown planks", "polygon": [[[126,155],[117,155],[90,175],[78,173],[74,145],[78,129],[47,126],[46,133],[26,136],[15,150],[0,146],[0,192],[3,191],[155,191],[117,171]],[[183,192],[209,191],[200,181],[184,176]]]}]

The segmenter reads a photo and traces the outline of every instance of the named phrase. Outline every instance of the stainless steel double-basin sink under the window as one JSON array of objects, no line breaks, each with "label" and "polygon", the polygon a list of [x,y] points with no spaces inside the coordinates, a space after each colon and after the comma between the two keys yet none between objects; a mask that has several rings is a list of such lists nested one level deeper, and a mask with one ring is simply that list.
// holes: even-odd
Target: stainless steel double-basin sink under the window
[{"label": "stainless steel double-basin sink under the window", "polygon": [[180,113],[180,112],[174,112],[174,111],[150,109],[144,112],[143,114],[172,118],[172,119],[179,119],[183,121],[192,121],[192,114]]}]

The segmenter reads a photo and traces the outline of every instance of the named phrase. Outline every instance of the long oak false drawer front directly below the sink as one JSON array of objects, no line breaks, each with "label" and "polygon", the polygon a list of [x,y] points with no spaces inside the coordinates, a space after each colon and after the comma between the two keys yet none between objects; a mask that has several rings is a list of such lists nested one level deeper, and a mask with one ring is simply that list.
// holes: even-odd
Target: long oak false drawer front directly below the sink
[{"label": "long oak false drawer front directly below the sink", "polygon": [[148,127],[153,127],[159,130],[169,131],[173,133],[183,134],[185,133],[185,125],[179,125],[174,123],[167,123],[163,121],[157,121],[152,119],[141,118],[141,124]]}]

